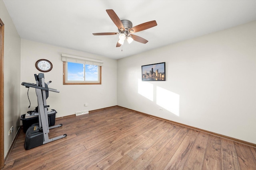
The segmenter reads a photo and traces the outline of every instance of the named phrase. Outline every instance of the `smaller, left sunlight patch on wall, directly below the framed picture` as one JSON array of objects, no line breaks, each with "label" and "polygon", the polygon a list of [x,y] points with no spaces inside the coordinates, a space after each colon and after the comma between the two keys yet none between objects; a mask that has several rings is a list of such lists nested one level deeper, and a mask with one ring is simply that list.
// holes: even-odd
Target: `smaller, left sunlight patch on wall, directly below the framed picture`
[{"label": "smaller, left sunlight patch on wall, directly below the framed picture", "polygon": [[140,79],[138,79],[138,94],[144,96],[145,98],[153,101],[153,84],[149,82],[142,82]]}]

